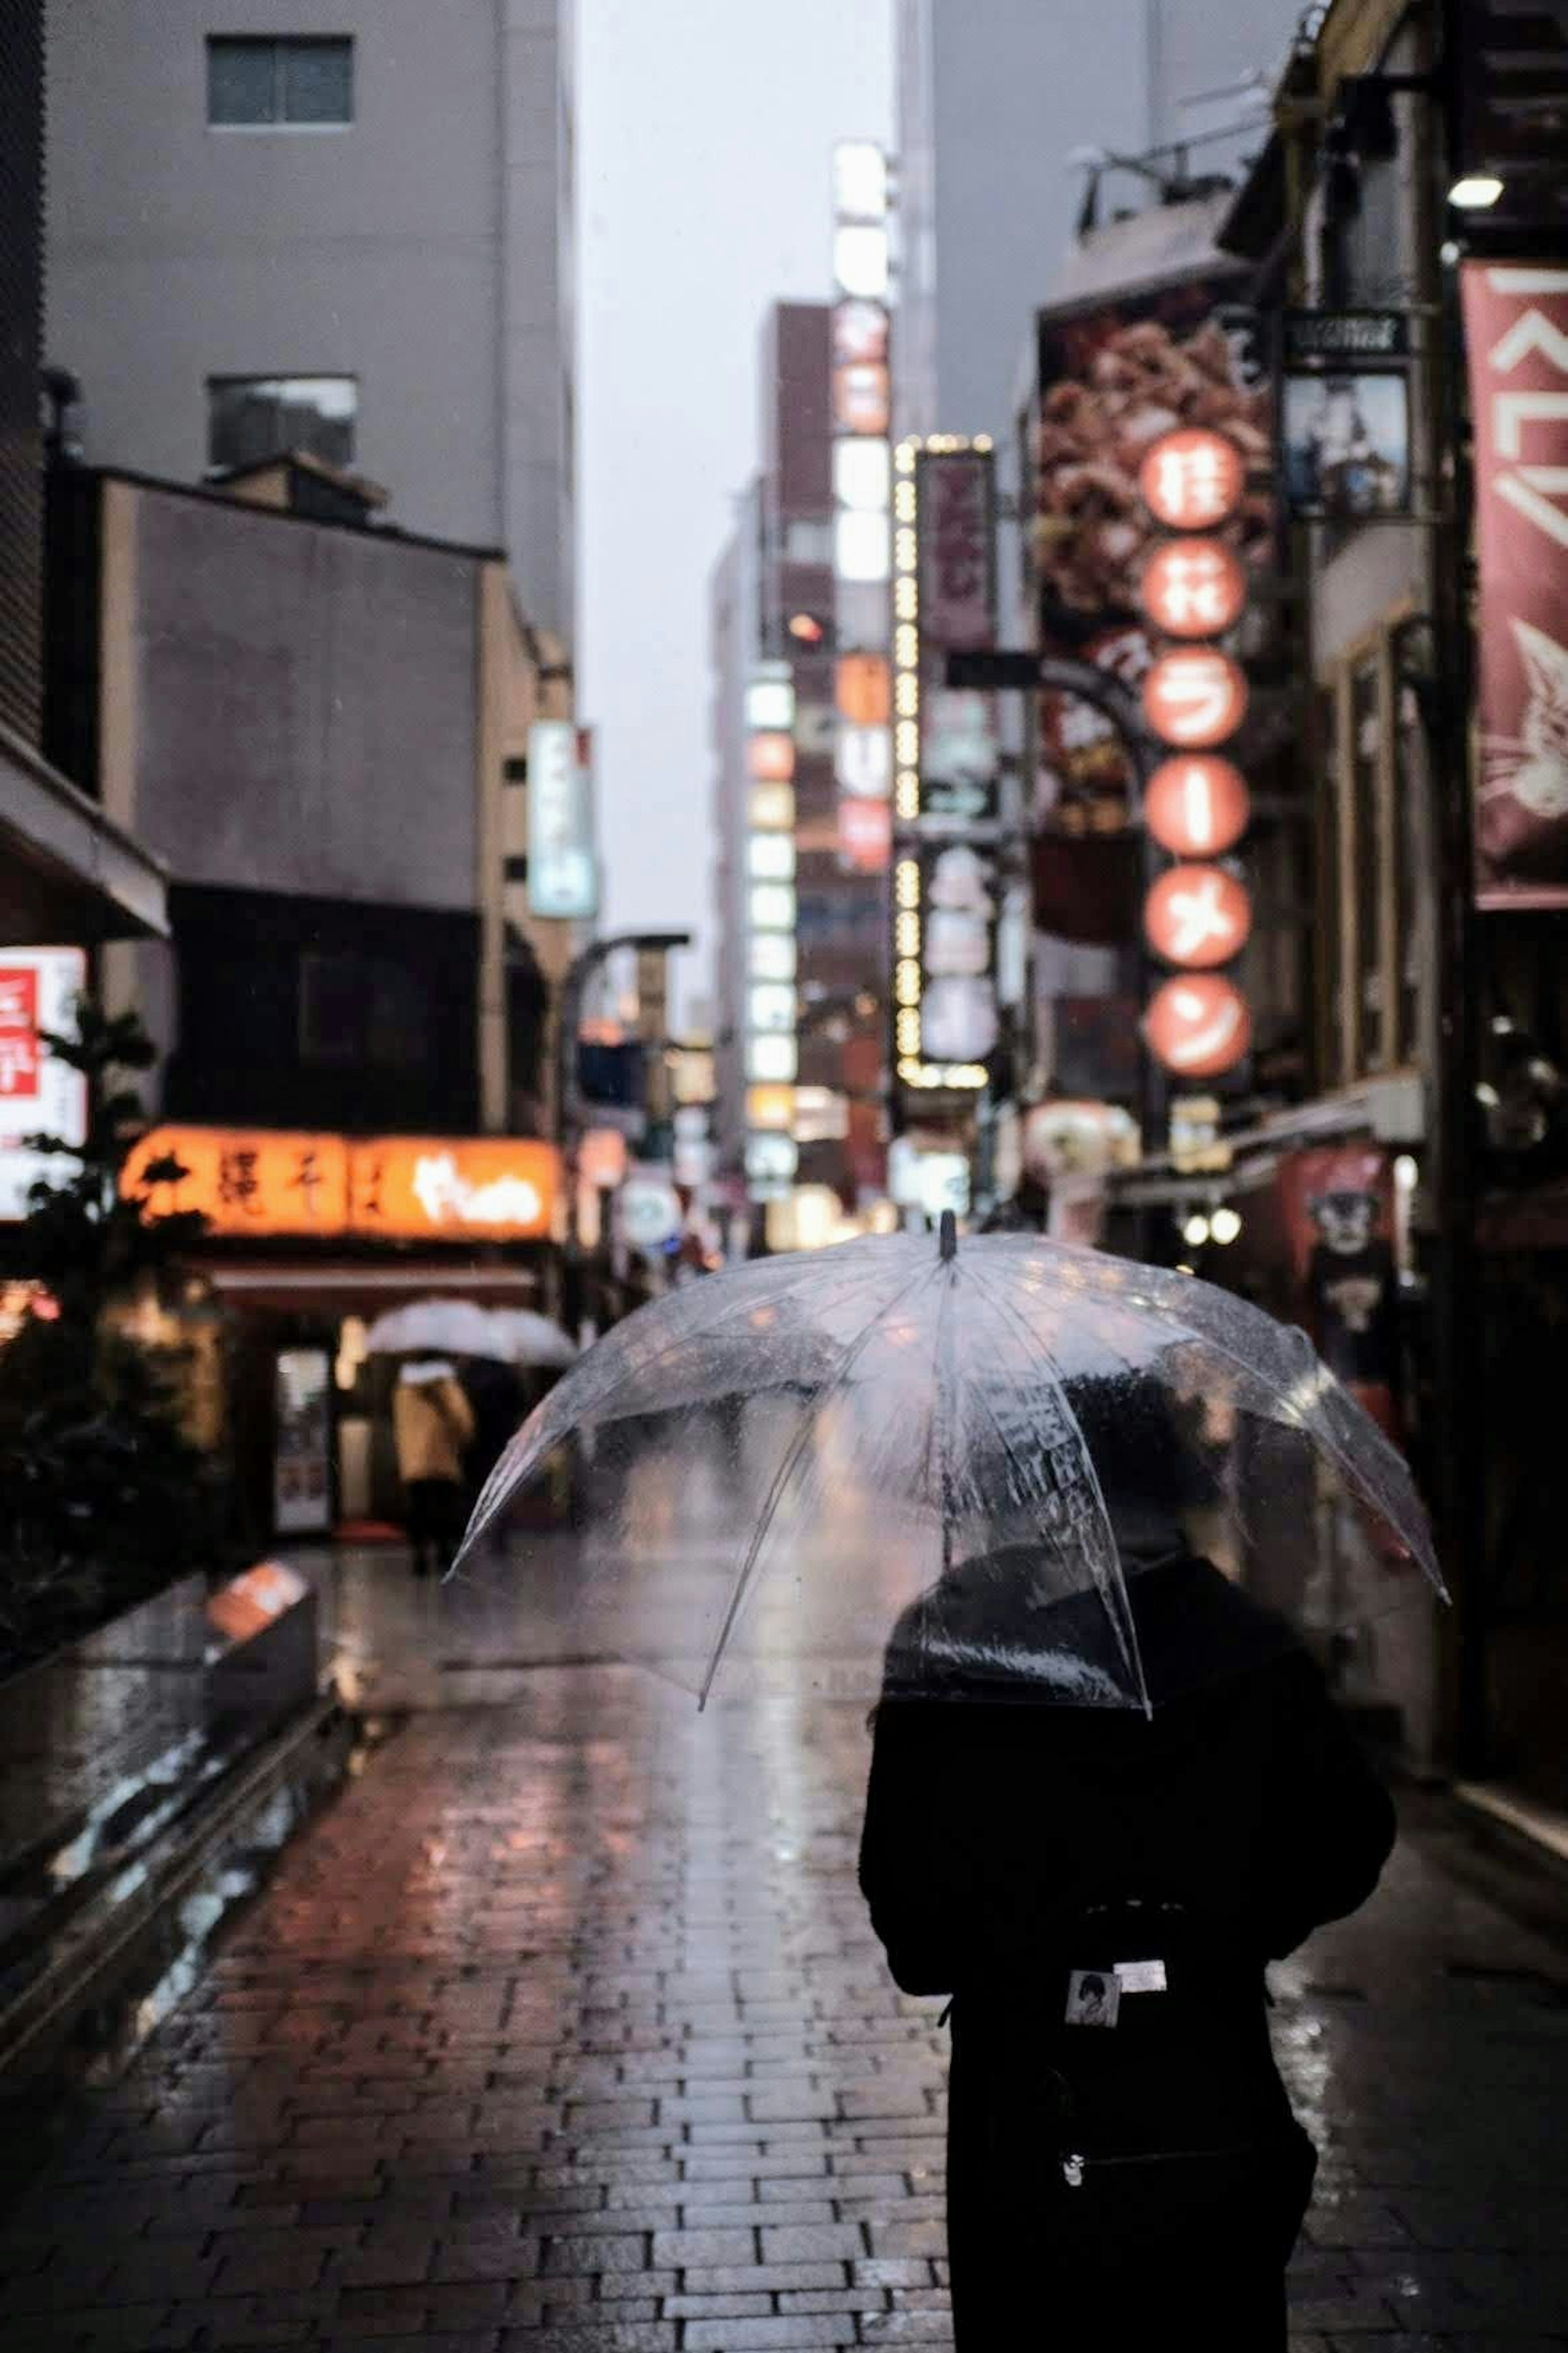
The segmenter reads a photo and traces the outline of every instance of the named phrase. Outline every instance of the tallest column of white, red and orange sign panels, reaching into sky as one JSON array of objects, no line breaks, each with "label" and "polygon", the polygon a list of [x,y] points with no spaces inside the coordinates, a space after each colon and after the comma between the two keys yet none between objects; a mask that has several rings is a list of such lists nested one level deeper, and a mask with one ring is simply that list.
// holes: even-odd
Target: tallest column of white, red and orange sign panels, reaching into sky
[{"label": "tallest column of white, red and orange sign panels, reaching into sky", "polygon": [[832,572],[839,859],[886,873],[891,849],[889,169],[882,148],[835,148]]}]

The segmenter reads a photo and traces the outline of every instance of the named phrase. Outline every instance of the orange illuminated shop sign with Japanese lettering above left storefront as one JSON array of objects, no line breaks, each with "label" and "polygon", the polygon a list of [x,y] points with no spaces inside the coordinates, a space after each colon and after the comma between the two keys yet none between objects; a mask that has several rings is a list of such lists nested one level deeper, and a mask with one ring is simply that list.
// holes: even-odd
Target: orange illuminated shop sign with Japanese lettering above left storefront
[{"label": "orange illuminated shop sign with Japanese lettering above left storefront", "polygon": [[[179,1181],[148,1184],[176,1160]],[[550,1233],[559,1155],[517,1136],[296,1134],[273,1127],[158,1127],[125,1191],[155,1214],[200,1209],[216,1235],[360,1235],[388,1242],[529,1242]]]}]

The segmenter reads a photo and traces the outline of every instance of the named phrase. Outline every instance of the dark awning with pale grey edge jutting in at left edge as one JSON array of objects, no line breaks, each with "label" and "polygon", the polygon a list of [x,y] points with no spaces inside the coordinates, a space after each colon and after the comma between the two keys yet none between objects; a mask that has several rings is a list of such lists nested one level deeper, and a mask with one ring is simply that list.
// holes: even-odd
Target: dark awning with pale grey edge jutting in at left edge
[{"label": "dark awning with pale grey edge jutting in at left edge", "polygon": [[0,941],[167,939],[167,873],[9,727],[0,727]]}]

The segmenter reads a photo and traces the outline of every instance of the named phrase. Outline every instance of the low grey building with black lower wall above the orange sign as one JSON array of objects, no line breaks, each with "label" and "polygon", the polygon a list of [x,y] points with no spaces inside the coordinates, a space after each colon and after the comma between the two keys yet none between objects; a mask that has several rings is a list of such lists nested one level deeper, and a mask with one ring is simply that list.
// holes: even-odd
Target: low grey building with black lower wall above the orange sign
[{"label": "low grey building with black lower wall above the orange sign", "polygon": [[49,504],[47,748],[172,873],[174,944],[103,986],[176,1111],[353,1125],[369,1075],[360,1125],[545,1129],[574,927],[527,906],[527,751],[567,711],[503,558],[89,466]]}]

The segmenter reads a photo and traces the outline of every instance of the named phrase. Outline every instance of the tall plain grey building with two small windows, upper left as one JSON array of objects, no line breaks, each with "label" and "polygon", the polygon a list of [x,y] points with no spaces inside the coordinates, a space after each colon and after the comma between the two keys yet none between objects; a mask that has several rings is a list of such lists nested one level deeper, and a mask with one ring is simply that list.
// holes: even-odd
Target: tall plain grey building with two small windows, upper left
[{"label": "tall plain grey building with two small windows, upper left", "polygon": [[277,454],[571,633],[569,0],[49,0],[47,355],[89,461]]}]

